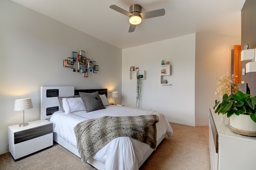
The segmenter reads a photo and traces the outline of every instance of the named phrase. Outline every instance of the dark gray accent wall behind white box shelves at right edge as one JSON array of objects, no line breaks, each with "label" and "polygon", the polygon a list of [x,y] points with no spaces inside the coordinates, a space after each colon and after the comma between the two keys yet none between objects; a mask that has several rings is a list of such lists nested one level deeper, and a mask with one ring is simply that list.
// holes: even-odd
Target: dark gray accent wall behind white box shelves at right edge
[{"label": "dark gray accent wall behind white box shelves at right edge", "polygon": [[[256,48],[256,0],[246,0],[241,11],[241,50],[249,44],[249,49]],[[241,69],[246,68],[247,61],[241,62]],[[242,72],[242,71],[241,71]],[[250,94],[256,96],[256,72],[241,76],[241,81],[248,83]]]}]

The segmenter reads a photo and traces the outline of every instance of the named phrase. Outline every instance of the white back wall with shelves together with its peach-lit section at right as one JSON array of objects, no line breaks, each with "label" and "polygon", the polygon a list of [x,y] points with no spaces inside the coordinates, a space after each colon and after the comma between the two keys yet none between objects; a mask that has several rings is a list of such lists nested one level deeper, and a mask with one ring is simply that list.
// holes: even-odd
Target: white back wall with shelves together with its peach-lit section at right
[{"label": "white back wall with shelves together with its peach-lit section at right", "polygon": [[[142,80],[141,108],[162,112],[169,122],[208,125],[208,110],[219,99],[217,76],[231,73],[231,56],[240,38],[196,33],[122,50],[122,104],[135,107],[136,78],[129,80],[130,66],[138,66]],[[171,86],[160,85],[161,60],[172,65]]]}]

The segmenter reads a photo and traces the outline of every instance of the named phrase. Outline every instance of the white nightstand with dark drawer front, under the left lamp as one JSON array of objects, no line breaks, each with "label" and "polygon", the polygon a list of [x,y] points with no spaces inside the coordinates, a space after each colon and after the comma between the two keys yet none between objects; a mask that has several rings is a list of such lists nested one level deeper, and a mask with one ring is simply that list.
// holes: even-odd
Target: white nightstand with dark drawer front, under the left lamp
[{"label": "white nightstand with dark drawer front, under the left lamp", "polygon": [[20,160],[53,145],[52,122],[36,120],[28,126],[8,126],[9,151],[13,159]]}]

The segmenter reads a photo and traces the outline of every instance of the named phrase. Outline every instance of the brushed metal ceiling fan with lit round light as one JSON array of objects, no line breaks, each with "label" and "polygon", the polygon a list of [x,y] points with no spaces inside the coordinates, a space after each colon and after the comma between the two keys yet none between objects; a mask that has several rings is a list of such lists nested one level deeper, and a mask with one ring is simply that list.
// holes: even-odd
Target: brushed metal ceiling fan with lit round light
[{"label": "brushed metal ceiling fan with lit round light", "polygon": [[164,16],[165,10],[164,8],[159,10],[153,10],[141,13],[142,7],[138,4],[133,4],[130,6],[130,12],[116,6],[116,5],[110,5],[111,9],[116,10],[117,12],[120,12],[121,14],[124,14],[126,16],[129,16],[129,22],[130,22],[130,28],[129,32],[134,32],[136,25],[140,24],[142,20],[147,18],[154,18],[157,16]]}]

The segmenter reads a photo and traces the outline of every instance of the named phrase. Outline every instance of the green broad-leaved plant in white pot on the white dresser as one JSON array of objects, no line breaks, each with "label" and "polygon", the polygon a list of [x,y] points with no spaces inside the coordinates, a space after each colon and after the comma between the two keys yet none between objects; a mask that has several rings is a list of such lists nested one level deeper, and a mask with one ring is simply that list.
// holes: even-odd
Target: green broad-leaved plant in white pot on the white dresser
[{"label": "green broad-leaved plant in white pot on the white dresser", "polygon": [[[238,91],[236,94],[224,94],[222,102],[215,100],[215,113],[227,114],[230,118],[230,130],[256,136],[256,96]],[[252,132],[252,133],[251,133]],[[254,135],[255,134],[255,135]]]}]

